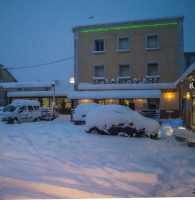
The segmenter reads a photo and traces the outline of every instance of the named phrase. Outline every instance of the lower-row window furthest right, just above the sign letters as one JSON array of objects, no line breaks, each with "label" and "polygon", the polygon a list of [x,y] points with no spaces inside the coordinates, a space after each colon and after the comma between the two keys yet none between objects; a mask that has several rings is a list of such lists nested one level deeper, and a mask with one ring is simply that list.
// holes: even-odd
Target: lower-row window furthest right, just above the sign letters
[{"label": "lower-row window furthest right, just above the sign letters", "polygon": [[146,66],[147,78],[159,78],[159,62],[148,62]]}]

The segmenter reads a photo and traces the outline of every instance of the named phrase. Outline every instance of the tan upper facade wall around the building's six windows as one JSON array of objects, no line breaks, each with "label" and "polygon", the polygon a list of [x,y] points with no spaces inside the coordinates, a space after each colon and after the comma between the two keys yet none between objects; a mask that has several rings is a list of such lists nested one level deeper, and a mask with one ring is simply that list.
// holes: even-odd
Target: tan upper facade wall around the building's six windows
[{"label": "tan upper facade wall around the building's six windows", "polygon": [[[145,49],[145,35],[159,34],[159,49]],[[131,50],[117,52],[118,36],[130,36]],[[105,38],[105,53],[94,54],[93,39]],[[79,33],[79,82],[93,81],[93,65],[105,64],[106,78],[117,78],[118,64],[130,63],[131,78],[146,76],[146,62],[158,61],[160,64],[159,82],[174,82],[178,78],[177,25],[128,30]],[[171,76],[167,76],[167,70]],[[87,73],[86,73],[87,72]]]}]

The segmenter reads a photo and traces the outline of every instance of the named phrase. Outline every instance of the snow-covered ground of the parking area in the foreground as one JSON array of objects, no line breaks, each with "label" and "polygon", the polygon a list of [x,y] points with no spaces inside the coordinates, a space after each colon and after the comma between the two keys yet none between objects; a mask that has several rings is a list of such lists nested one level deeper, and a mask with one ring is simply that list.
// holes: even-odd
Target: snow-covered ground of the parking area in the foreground
[{"label": "snow-covered ground of the parking area in the foreground", "polygon": [[64,116],[0,122],[0,197],[195,196],[195,148],[175,140],[179,127],[162,124],[160,140],[84,130]]}]

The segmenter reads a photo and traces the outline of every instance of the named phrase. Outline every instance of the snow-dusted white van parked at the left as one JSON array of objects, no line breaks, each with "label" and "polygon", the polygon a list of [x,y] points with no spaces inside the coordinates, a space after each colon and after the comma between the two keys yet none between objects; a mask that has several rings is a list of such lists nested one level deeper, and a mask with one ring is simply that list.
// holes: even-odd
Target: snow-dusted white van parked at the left
[{"label": "snow-dusted white van parked at the left", "polygon": [[41,119],[40,103],[35,100],[15,100],[7,105],[3,112],[3,121],[7,123],[40,121]]}]

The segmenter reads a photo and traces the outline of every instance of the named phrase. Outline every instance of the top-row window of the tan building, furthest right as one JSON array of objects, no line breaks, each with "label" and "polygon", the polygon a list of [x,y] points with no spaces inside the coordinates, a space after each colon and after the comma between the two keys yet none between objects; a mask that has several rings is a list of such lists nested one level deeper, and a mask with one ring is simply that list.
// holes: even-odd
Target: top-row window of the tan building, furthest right
[{"label": "top-row window of the tan building, furthest right", "polygon": [[158,34],[146,35],[146,49],[147,50],[159,49],[159,35]]}]

